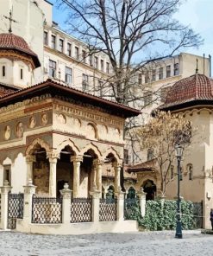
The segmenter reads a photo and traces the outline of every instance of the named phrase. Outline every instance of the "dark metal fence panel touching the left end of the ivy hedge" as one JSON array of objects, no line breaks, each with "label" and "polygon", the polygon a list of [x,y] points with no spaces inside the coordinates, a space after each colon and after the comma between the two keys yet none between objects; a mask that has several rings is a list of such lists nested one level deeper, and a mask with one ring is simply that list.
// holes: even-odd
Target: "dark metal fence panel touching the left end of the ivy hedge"
[{"label": "dark metal fence panel touching the left end of the ivy hedge", "polygon": [[125,198],[124,200],[124,219],[135,220],[136,211],[140,210],[137,198]]}]

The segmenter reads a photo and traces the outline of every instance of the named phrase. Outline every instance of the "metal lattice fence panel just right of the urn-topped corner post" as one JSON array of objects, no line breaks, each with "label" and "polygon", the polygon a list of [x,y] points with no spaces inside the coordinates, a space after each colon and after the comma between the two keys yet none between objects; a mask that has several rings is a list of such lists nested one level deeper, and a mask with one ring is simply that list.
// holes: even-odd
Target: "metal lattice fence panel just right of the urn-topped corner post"
[{"label": "metal lattice fence panel just right of the urn-topped corner post", "polygon": [[91,198],[71,199],[71,222],[90,222],[92,217]]}]

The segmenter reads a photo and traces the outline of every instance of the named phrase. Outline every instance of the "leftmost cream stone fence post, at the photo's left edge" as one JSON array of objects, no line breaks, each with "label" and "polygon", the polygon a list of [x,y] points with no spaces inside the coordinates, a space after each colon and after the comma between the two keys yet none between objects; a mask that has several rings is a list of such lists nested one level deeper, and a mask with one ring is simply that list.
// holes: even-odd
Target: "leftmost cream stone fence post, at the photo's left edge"
[{"label": "leftmost cream stone fence post, at the photo's left edge", "polygon": [[9,182],[6,180],[3,182],[1,189],[1,228],[6,230],[8,228],[8,193],[12,187],[9,186]]}]

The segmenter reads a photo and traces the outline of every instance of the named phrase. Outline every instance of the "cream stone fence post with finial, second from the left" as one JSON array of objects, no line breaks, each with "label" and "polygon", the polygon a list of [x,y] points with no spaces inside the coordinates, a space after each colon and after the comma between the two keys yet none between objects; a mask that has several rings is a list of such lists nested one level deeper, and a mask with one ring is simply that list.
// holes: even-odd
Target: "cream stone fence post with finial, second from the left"
[{"label": "cream stone fence post with finial, second from the left", "polygon": [[35,194],[36,186],[34,186],[31,179],[28,179],[28,184],[27,186],[23,186],[23,189],[23,221],[30,224],[32,221],[33,195]]}]

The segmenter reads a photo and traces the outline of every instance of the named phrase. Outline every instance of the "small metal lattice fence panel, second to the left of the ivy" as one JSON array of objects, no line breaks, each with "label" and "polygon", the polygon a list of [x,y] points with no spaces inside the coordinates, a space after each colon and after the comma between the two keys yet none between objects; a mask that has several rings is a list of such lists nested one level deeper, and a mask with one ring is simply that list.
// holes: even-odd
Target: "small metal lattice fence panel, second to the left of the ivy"
[{"label": "small metal lattice fence panel, second to the left of the ivy", "polygon": [[116,221],[116,198],[101,198],[99,204],[99,221]]}]

